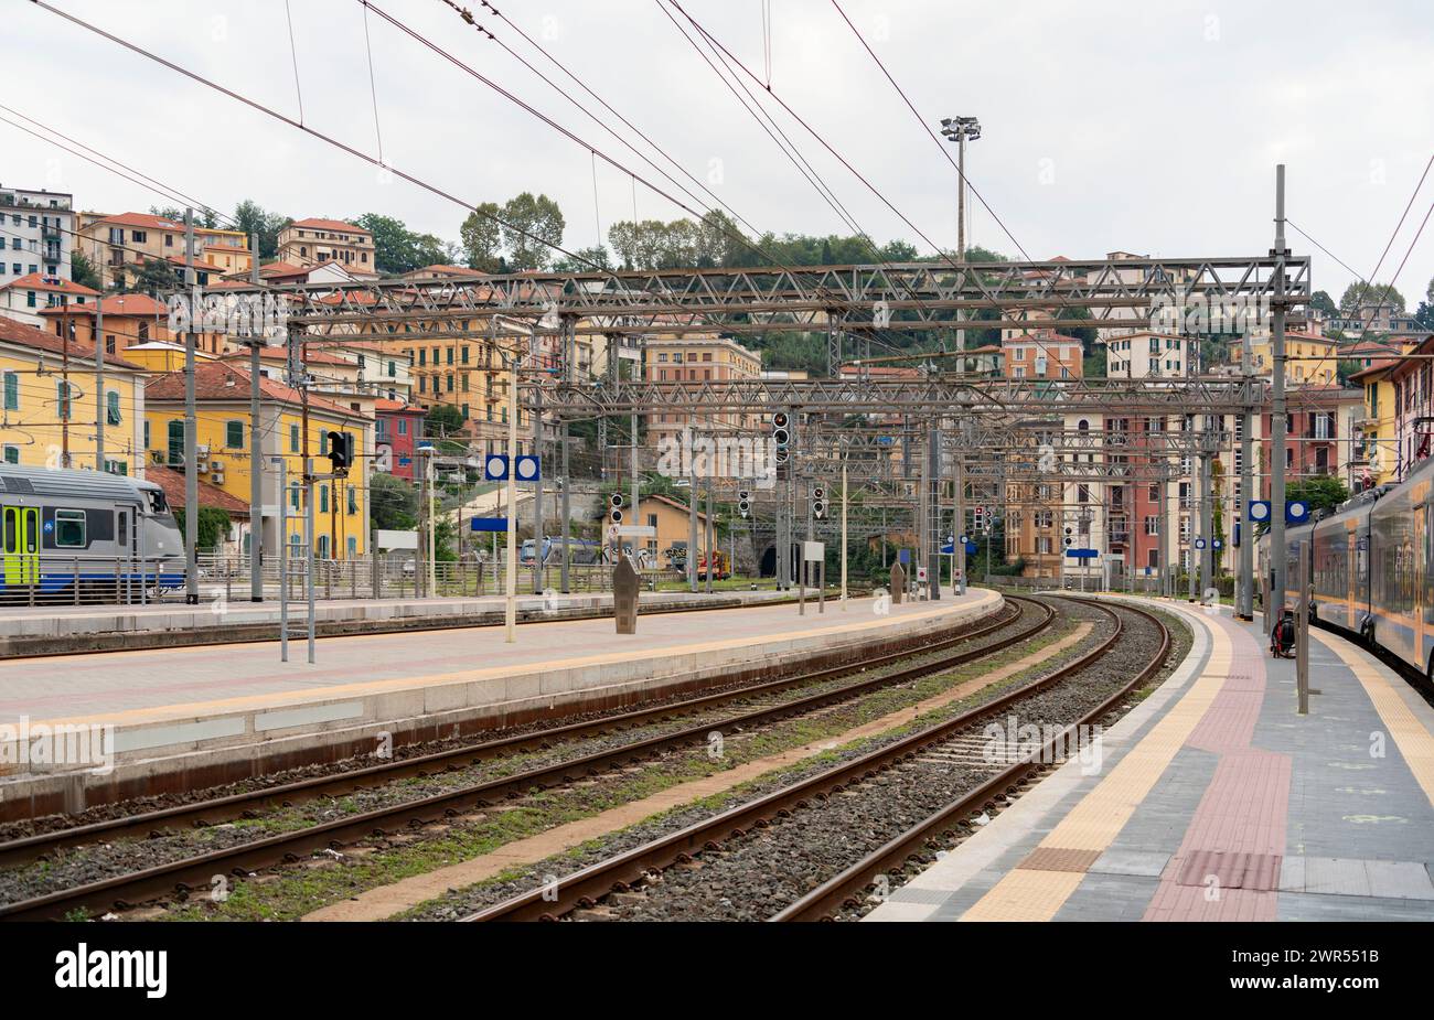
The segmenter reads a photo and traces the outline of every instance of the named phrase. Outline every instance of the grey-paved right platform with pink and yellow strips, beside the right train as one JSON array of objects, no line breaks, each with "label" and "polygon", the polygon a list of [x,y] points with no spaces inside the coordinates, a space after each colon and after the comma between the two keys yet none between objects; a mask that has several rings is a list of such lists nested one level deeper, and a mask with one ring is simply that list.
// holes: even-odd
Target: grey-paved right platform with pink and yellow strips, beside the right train
[{"label": "grey-paved right platform with pink and yellow strips, beside the right train", "polygon": [[1187,660],[869,921],[1434,920],[1434,709],[1311,630],[1318,695],[1256,623],[1190,622]]}]

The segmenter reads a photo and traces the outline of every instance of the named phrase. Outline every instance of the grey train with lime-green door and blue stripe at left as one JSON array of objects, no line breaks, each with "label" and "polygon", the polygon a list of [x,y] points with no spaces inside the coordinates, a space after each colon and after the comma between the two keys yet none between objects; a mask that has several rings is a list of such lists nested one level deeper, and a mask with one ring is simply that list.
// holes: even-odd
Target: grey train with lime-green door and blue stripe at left
[{"label": "grey train with lime-green door and blue stripe at left", "polygon": [[0,464],[0,605],[139,602],[184,584],[163,490],[99,471]]}]

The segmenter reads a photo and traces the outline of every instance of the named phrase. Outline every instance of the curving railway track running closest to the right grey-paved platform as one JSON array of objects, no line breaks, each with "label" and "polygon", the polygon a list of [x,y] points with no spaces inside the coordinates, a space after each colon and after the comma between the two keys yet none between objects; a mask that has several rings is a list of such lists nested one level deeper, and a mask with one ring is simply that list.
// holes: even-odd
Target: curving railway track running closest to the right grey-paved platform
[{"label": "curving railway track running closest to the right grey-paved platform", "polygon": [[[479,910],[463,918],[467,921],[496,921],[496,920],[556,920],[569,915],[575,910],[594,910],[605,900],[621,901],[611,911],[611,917],[621,918],[624,914],[632,915],[637,905],[637,915],[654,917],[652,910],[644,913],[645,898],[660,890],[665,881],[668,870],[688,868],[695,875],[691,885],[701,888],[710,900],[718,895],[711,891],[713,880],[703,870],[708,858],[721,857],[731,852],[736,845],[751,845],[757,841],[771,844],[766,852],[767,864],[782,860],[796,860],[804,862],[812,857],[807,847],[800,842],[800,831],[820,829],[819,815],[822,811],[837,811],[832,805],[839,805],[843,798],[853,794],[859,798],[868,788],[875,785],[888,786],[878,791],[876,811],[892,808],[901,794],[893,794],[891,785],[905,779],[908,788],[915,786],[925,792],[932,789],[939,792],[939,776],[961,774],[971,778],[971,772],[984,771],[979,781],[969,784],[959,795],[944,799],[938,805],[925,805],[921,809],[919,821],[903,827],[895,837],[883,839],[880,845],[862,852],[858,860],[836,868],[836,872],[822,881],[807,881],[809,888],[789,903],[780,904],[777,910],[769,911],[769,920],[796,921],[817,920],[830,917],[840,910],[850,910],[859,904],[863,891],[879,875],[892,870],[901,870],[912,858],[925,852],[928,842],[945,831],[959,825],[974,812],[991,805],[997,798],[1014,792],[1018,785],[1034,772],[1047,768],[1044,759],[1047,752],[1058,741],[1068,741],[1076,726],[1091,725],[1108,715],[1133,691],[1143,686],[1154,676],[1164,663],[1170,650],[1170,633],[1153,613],[1143,609],[1119,605],[1116,607],[1094,602],[1080,602],[1086,606],[1097,607],[1114,622],[1111,633],[1098,642],[1088,652],[1073,662],[1061,666],[1054,673],[1040,678],[1031,683],[1010,691],[997,699],[979,705],[955,718],[942,721],[875,751],[852,758],[835,768],[822,771],[804,779],[760,797],[747,804],[737,805],[711,818],[688,825],[677,832],[671,832],[647,844],[617,854],[599,861],[575,874],[566,875],[542,888],[532,890],[518,897],[512,897],[499,904]],[[1129,615],[1124,616],[1124,615]],[[1058,732],[1048,739],[1021,748],[1014,755],[1014,761],[991,765],[981,762],[971,769],[974,732],[978,726],[1001,713],[1015,713],[1021,711],[1022,702],[1038,699],[1051,692],[1065,680],[1078,676],[1084,670],[1097,666],[1113,649],[1120,646],[1131,630],[1127,620],[1141,620],[1141,627],[1147,629],[1147,636],[1154,636],[1156,649],[1152,655],[1141,655],[1143,665],[1121,670],[1121,679],[1108,696],[1100,698],[1098,703],[1086,706],[1080,713],[1065,721]],[[1129,679],[1126,679],[1129,676]],[[961,779],[961,775],[956,776]],[[959,782],[956,784],[959,785]],[[905,795],[905,799],[921,801],[922,798]],[[928,795],[929,801],[931,797]],[[903,807],[909,807],[905,805]],[[868,815],[869,818],[870,815]],[[777,829],[797,831],[794,845],[783,842],[776,835]],[[760,854],[754,854],[760,857]],[[736,860],[736,858],[734,858]],[[760,874],[763,864],[754,861],[737,861],[734,870],[744,874]],[[761,880],[763,888],[770,888],[770,880]],[[720,885],[720,881],[717,882]],[[614,895],[615,894],[615,895]],[[690,898],[690,903],[695,901]],[[727,900],[721,901],[724,905]],[[770,905],[770,904],[767,904]],[[664,915],[657,913],[658,917]],[[681,914],[667,914],[670,917]],[[684,920],[690,917],[683,915]]]}]

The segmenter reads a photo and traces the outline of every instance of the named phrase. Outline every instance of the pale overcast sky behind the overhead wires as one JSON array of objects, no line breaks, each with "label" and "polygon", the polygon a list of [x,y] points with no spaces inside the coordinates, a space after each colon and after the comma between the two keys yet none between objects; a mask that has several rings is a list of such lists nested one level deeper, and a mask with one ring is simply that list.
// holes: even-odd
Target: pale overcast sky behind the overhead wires
[{"label": "pale overcast sky behind the overhead wires", "polygon": [[[53,1],[298,116],[284,0]],[[761,0],[681,3],[766,79]],[[304,122],[377,153],[363,6],[357,0],[290,6]],[[561,77],[512,29],[476,0],[472,6],[499,39]],[[1263,254],[1272,241],[1275,163],[1282,160],[1289,218],[1358,274],[1368,274],[1434,152],[1434,17],[1424,0],[1358,6],[842,0],[842,6],[926,123],[954,115],[981,119],[984,138],[969,149],[969,179],[1035,259],[1116,249],[1167,256]],[[377,0],[377,7],[675,193],[442,0]],[[26,0],[7,0],[4,9],[11,87],[0,102],[19,113],[221,211],[232,211],[244,198],[295,218],[371,211],[457,239],[465,212],[452,202],[386,179],[350,155]],[[756,228],[847,232],[658,0],[513,0],[500,9]],[[829,0],[770,0],[770,9],[773,93],[928,238],[954,248],[955,172],[836,9]],[[546,192],[564,209],[564,242],[574,249],[598,239],[598,221],[607,231],[615,219],[632,216],[625,170],[598,162],[595,203],[584,145],[377,14],[370,11],[367,21],[377,128],[390,165],[469,202]],[[571,82],[564,85],[576,93]],[[771,107],[863,229],[929,251],[810,135]],[[14,119],[4,110],[0,116]],[[611,115],[602,116],[622,130]],[[0,123],[0,138],[6,185],[70,191],[80,208],[106,212],[175,203],[10,125]],[[1434,175],[1381,279],[1404,256],[1431,201]],[[1018,256],[991,213],[975,206],[971,242]],[[642,185],[637,212],[644,219],[683,215]],[[1298,234],[1292,232],[1291,246],[1314,255],[1315,287],[1338,299],[1351,274]],[[1398,278],[1411,308],[1431,274],[1434,229],[1427,229]]]}]

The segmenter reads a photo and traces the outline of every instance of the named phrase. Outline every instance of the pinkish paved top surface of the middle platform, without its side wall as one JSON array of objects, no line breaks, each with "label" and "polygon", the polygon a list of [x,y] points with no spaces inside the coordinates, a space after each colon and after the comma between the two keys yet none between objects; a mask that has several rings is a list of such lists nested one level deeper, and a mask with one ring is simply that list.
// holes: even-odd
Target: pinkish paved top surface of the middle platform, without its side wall
[{"label": "pinkish paved top surface of the middle platform, without its side wall", "polygon": [[796,605],[693,610],[638,617],[637,635],[618,635],[611,619],[525,623],[516,642],[503,627],[394,632],[321,638],[308,665],[301,635],[280,662],[277,640],[222,646],[87,653],[0,660],[0,722],[37,721],[142,725],[217,712],[475,685],[513,675],[597,678],[642,675],[650,660],[693,663],[751,660],[766,653],[820,648],[883,630],[936,625],[952,613],[971,619],[1001,599],[974,590],[964,597],[891,606],[836,599],[825,612]]}]

